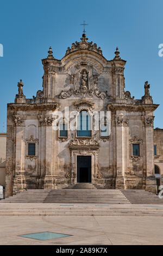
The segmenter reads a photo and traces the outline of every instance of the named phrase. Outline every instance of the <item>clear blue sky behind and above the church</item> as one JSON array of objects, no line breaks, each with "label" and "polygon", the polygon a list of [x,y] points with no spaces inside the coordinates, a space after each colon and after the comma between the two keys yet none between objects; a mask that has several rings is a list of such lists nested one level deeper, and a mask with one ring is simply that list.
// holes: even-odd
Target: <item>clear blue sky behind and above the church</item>
[{"label": "clear blue sky behind and above the church", "polygon": [[118,46],[127,60],[126,90],[135,99],[144,95],[145,81],[151,84],[154,103],[160,104],[154,126],[163,128],[162,0],[5,0],[0,3],[0,132],[6,131],[7,103],[14,102],[18,80],[27,98],[36,95],[49,46],[61,59],[72,42],[80,41],[84,20],[89,41],[101,47],[106,59],[114,58]]}]

